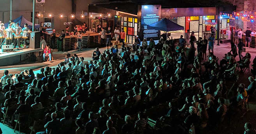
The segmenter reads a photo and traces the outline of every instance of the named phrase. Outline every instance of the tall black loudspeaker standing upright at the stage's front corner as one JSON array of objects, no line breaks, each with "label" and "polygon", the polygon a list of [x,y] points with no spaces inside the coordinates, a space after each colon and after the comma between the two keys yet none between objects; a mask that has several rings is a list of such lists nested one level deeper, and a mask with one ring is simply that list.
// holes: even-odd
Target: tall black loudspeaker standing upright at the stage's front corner
[{"label": "tall black loudspeaker standing upright at the stage's front corner", "polygon": [[41,48],[40,46],[40,32],[34,31],[30,33],[29,47],[32,49]]}]

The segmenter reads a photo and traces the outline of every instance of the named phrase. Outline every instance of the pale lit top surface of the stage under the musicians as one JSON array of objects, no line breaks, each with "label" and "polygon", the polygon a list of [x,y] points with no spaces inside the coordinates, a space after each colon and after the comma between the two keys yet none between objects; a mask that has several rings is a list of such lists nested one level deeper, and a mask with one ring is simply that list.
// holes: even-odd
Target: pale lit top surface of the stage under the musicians
[{"label": "pale lit top surface of the stage under the musicians", "polygon": [[15,49],[13,52],[2,52],[2,50],[0,49],[0,59],[9,58],[17,55],[23,55],[23,54],[32,53],[32,52],[39,52],[40,50],[41,48],[37,48],[37,49],[26,48],[26,49],[20,49],[20,50]]}]

